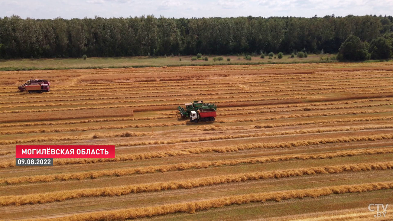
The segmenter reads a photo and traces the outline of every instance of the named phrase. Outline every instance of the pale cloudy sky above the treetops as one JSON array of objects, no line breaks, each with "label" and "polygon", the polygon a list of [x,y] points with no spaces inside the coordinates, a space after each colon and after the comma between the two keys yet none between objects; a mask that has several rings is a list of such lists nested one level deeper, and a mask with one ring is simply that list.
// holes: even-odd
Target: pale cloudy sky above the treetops
[{"label": "pale cloudy sky above the treetops", "polygon": [[0,17],[94,18],[393,15],[393,0],[0,0]]}]

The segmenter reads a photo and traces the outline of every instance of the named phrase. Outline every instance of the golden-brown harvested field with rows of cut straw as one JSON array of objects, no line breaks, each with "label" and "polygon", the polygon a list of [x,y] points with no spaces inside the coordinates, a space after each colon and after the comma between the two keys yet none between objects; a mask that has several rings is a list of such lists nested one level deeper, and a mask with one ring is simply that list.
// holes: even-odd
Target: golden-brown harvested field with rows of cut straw
[{"label": "golden-brown harvested field with rows of cut straw", "polygon": [[[51,91],[17,92],[30,77]],[[393,204],[392,62],[0,79],[1,220],[360,220]],[[216,103],[217,120],[179,118],[193,100]],[[116,157],[15,166],[16,144],[115,145]]]}]

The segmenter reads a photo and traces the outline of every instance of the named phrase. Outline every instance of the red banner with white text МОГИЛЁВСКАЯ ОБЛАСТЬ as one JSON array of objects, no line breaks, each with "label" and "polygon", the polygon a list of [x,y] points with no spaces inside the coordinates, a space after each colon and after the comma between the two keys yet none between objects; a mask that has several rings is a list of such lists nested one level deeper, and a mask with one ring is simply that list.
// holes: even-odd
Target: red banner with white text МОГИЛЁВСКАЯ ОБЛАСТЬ
[{"label": "red banner with white text \u041c\u041e\u0413\u0418\u041b\u0401\u0412\u0421\u041a\u0410\u042f \u041e\u0411\u041b\u0410\u0421\u0422\u042c", "polygon": [[114,145],[16,145],[16,158],[114,158]]}]

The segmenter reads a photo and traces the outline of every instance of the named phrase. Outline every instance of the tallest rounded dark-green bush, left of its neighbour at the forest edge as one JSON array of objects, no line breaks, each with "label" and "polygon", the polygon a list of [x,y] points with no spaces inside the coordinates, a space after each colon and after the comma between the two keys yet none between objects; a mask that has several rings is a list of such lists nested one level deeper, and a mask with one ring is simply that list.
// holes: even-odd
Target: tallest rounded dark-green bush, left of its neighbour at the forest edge
[{"label": "tallest rounded dark-green bush, left of its neighbour at the forest edge", "polygon": [[339,61],[364,61],[370,58],[367,46],[355,35],[349,36],[340,46]]}]

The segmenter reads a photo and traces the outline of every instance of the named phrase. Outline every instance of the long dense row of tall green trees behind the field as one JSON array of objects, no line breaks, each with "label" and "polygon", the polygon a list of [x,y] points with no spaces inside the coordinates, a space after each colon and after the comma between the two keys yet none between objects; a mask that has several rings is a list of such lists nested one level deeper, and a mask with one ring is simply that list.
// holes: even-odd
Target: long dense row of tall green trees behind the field
[{"label": "long dense row of tall green trees behind the field", "polygon": [[371,42],[391,16],[73,18],[0,17],[0,58],[114,57],[261,52],[337,53],[351,35]]}]

